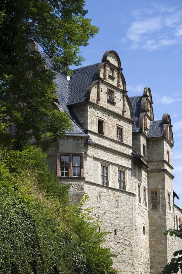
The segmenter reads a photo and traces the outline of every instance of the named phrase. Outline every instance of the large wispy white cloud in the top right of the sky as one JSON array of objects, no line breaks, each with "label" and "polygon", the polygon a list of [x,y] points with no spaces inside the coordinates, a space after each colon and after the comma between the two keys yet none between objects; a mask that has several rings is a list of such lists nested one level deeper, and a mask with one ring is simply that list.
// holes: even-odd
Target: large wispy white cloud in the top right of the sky
[{"label": "large wispy white cloud in the top right of the sky", "polygon": [[122,40],[130,41],[131,48],[153,51],[182,43],[181,7],[154,4],[148,9],[135,10],[133,15],[134,21]]}]

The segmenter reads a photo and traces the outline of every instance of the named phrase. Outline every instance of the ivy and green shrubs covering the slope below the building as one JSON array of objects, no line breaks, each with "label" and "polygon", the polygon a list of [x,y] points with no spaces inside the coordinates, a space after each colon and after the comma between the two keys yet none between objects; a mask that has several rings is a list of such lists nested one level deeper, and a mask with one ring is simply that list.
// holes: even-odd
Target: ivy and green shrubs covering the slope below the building
[{"label": "ivy and green shrubs covering the slope below the building", "polygon": [[2,152],[0,273],[117,273],[102,247],[106,232],[89,222],[84,200],[69,205],[68,188],[56,182],[45,157],[34,146]]}]

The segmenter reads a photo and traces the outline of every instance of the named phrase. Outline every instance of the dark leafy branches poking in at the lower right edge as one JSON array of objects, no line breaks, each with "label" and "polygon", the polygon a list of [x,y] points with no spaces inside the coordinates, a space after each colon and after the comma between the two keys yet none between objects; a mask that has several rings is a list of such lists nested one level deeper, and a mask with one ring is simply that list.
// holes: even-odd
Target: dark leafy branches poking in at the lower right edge
[{"label": "dark leafy branches poking in at the lower right edge", "polygon": [[[170,236],[179,237],[182,239],[182,227],[180,229],[169,229],[164,232],[164,235],[170,234]],[[164,267],[163,271],[159,274],[171,274],[171,273],[178,273],[179,269],[182,270],[182,249],[177,250],[173,254],[174,257],[171,261]]]}]

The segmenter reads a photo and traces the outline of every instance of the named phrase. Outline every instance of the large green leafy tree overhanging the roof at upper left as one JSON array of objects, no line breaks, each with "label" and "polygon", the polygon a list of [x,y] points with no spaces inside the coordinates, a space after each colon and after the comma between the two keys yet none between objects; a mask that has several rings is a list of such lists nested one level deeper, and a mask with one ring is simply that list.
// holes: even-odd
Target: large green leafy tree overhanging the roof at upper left
[{"label": "large green leafy tree overhanging the roof at upper left", "polygon": [[[69,66],[80,65],[79,47],[98,32],[85,18],[84,5],[84,0],[0,2],[0,102],[2,114],[16,124],[13,139],[19,148],[32,138],[30,132],[46,149],[45,140],[71,129],[67,114],[53,107],[53,80],[56,72],[69,75]],[[31,54],[31,41],[44,54]]]}]

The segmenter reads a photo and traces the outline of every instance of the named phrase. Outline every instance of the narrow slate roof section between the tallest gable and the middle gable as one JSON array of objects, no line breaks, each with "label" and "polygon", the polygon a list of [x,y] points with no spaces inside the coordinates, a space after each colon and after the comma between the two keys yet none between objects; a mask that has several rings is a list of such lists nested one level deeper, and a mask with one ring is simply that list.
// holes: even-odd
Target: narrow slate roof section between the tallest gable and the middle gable
[{"label": "narrow slate roof section between the tallest gable and the middle gable", "polygon": [[134,123],[132,125],[132,132],[138,132],[138,122],[139,122],[139,117],[140,117],[140,112],[141,112],[141,101],[142,101],[142,96],[133,96],[129,97],[131,105],[133,107],[133,116],[134,116]]}]

